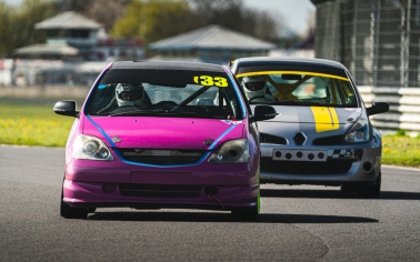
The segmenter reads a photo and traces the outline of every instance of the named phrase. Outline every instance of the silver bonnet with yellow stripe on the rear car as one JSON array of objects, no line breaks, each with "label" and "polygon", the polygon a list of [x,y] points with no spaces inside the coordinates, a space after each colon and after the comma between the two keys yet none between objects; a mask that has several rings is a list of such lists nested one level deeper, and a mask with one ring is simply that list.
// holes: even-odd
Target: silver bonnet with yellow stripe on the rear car
[{"label": "silver bonnet with yellow stripe on the rear car", "polygon": [[[306,130],[308,133],[332,135],[344,133],[361,115],[360,108],[274,105],[274,119],[258,122],[260,132],[283,134]],[[316,135],[318,137],[318,135]]]}]

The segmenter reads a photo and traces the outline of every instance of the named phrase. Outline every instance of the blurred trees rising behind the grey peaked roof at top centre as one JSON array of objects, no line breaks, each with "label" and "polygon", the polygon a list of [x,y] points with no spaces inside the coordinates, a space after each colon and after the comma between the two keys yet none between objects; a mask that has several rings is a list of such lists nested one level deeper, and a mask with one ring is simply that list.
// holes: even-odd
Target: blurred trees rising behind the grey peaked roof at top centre
[{"label": "blurred trees rising behind the grey peaked roof at top centre", "polygon": [[271,42],[284,28],[281,16],[250,9],[242,0],[133,0],[111,34],[152,42],[209,24]]}]

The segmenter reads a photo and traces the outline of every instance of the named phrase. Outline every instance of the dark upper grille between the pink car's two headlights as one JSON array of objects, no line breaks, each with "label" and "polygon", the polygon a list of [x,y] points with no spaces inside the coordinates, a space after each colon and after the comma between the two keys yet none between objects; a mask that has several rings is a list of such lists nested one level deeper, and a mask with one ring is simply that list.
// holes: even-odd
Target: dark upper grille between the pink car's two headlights
[{"label": "dark upper grille between the pink car's two headlights", "polygon": [[117,149],[127,161],[146,164],[190,164],[198,162],[204,151]]}]

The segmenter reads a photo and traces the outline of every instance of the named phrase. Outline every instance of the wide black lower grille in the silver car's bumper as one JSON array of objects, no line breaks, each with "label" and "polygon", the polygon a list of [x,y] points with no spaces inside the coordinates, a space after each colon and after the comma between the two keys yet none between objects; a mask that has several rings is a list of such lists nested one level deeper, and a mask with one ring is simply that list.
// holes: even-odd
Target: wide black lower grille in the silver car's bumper
[{"label": "wide black lower grille in the silver car's bumper", "polygon": [[326,162],[314,161],[273,161],[271,158],[261,158],[262,172],[279,172],[287,174],[337,174],[350,170],[353,160],[338,159]]}]

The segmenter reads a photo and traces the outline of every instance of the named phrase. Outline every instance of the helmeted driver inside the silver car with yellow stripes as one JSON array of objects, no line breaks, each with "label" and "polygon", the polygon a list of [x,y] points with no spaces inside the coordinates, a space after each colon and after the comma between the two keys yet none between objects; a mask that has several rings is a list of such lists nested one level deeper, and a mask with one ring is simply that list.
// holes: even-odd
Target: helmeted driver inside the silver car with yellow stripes
[{"label": "helmeted driver inside the silver car with yellow stripes", "polygon": [[267,81],[262,75],[243,77],[241,84],[248,100],[252,102],[276,101],[274,97],[267,93]]}]

